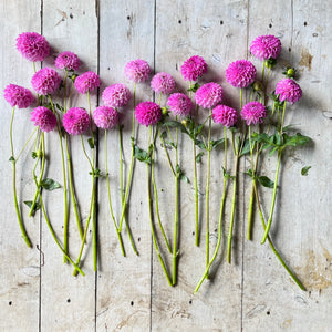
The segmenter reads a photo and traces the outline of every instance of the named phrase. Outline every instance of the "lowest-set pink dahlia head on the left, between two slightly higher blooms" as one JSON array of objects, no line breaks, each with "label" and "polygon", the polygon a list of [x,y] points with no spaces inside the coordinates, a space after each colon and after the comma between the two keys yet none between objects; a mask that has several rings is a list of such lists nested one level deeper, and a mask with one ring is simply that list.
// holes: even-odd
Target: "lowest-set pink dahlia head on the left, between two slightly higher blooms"
[{"label": "lowest-set pink dahlia head on the left, between two slightly higher blooms", "polygon": [[90,126],[90,116],[84,108],[72,107],[63,115],[62,123],[70,135],[81,135]]}]

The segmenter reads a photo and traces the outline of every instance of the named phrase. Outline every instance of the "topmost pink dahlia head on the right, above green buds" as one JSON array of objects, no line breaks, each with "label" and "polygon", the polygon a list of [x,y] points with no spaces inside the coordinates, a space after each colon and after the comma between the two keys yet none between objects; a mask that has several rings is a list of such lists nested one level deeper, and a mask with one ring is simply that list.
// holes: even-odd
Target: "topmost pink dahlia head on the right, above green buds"
[{"label": "topmost pink dahlia head on the right, above green buds", "polygon": [[250,46],[250,52],[260,60],[277,59],[281,52],[280,39],[276,35],[259,35]]}]

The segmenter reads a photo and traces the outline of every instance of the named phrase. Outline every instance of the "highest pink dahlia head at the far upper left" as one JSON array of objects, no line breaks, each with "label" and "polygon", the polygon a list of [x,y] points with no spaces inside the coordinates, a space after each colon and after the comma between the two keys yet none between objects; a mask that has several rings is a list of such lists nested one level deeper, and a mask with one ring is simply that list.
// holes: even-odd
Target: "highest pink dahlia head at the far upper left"
[{"label": "highest pink dahlia head at the far upper left", "polygon": [[29,61],[43,61],[50,54],[46,39],[37,32],[23,32],[17,38],[17,49]]}]

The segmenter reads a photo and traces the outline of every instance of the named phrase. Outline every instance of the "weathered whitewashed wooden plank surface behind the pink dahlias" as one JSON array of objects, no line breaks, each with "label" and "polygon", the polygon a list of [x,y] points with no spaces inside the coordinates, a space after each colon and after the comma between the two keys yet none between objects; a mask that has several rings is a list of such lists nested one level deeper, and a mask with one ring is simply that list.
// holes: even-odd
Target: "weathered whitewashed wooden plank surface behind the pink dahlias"
[{"label": "weathered whitewashed wooden plank surface behind the pink dahlias", "polygon": [[[238,91],[225,82],[225,69],[235,60],[249,59],[250,42],[260,34],[281,39],[282,53],[273,84],[281,79],[282,64],[299,70],[303,97],[289,112],[288,123],[299,126],[313,144],[292,152],[283,164],[272,237],[286,261],[294,269],[308,291],[301,291],[274,258],[268,245],[261,246],[262,229],[255,224],[253,241],[245,238],[249,185],[245,178],[246,160],[240,167],[241,186],[235,229],[234,263],[225,262],[225,241],[215,278],[205,282],[197,295],[193,290],[199,280],[205,250],[194,246],[194,187],[181,184],[181,221],[179,284],[169,288],[156,259],[148,225],[145,166],[136,164],[129,220],[139,257],[134,256],[124,236],[127,257],[120,252],[105,200],[105,181],[98,181],[98,272],[92,269],[91,251],[86,256],[86,277],[72,277],[63,264],[41,215],[24,218],[33,249],[20,238],[11,193],[9,147],[10,106],[1,97],[0,132],[0,330],[1,331],[332,331],[332,98],[331,98],[331,2],[329,0],[272,1],[157,1],[157,0],[39,0],[1,1],[1,89],[9,83],[30,86],[32,64],[15,50],[15,38],[24,31],[46,37],[54,54],[73,51],[83,62],[81,72],[100,72],[103,86],[123,82],[133,59],[145,59],[155,72],[173,74],[184,89],[179,68],[189,56],[204,56],[209,66],[206,81],[221,83],[227,100],[238,106]],[[52,56],[45,61],[51,63]],[[277,74],[278,73],[278,74]],[[102,91],[102,90],[101,90]],[[139,84],[138,100],[151,100],[148,83]],[[85,97],[75,101],[86,106]],[[98,96],[93,95],[93,104]],[[131,113],[131,107],[127,112]],[[15,117],[15,146],[32,131],[29,112]],[[127,117],[129,123],[131,114]],[[129,159],[129,126],[125,129],[125,162]],[[217,131],[214,132],[218,134]],[[139,128],[143,144],[147,131]],[[55,133],[48,135],[51,151],[48,176],[61,181],[59,147]],[[114,142],[114,144],[112,144]],[[110,135],[111,176],[116,178],[117,141]],[[100,135],[100,167],[104,165],[104,136]],[[191,177],[190,148],[181,142],[181,162]],[[160,151],[160,148],[158,149]],[[86,218],[90,198],[89,165],[79,141],[73,139],[72,154],[81,214]],[[114,157],[113,157],[114,156]],[[221,157],[221,158],[218,158]],[[211,229],[217,228],[222,155],[214,155],[211,174]],[[32,159],[19,163],[20,200],[31,199]],[[199,168],[201,199],[205,198],[205,162]],[[263,169],[271,177],[276,159],[266,159]],[[301,168],[310,165],[307,177]],[[248,163],[247,163],[248,166]],[[270,169],[271,167],[271,169]],[[173,181],[167,165],[157,168],[162,214],[167,234],[173,230]],[[139,176],[139,175],[143,176]],[[160,177],[163,174],[163,178]],[[170,185],[169,185],[170,183]],[[56,190],[55,190],[56,191]],[[51,221],[62,238],[62,190],[44,194]],[[269,195],[264,201],[269,204]],[[117,190],[118,194],[118,190]],[[118,195],[117,195],[118,196]],[[117,200],[117,208],[120,201]],[[22,206],[27,215],[27,209]],[[229,207],[228,207],[229,209]],[[118,211],[118,210],[117,210]],[[204,220],[203,210],[201,217]],[[228,221],[227,210],[226,220]],[[72,219],[73,220],[73,219]],[[167,222],[166,220],[172,220]],[[225,235],[228,222],[225,225]],[[204,227],[201,228],[204,234]],[[70,229],[73,256],[80,246],[75,225]],[[226,236],[225,236],[226,238]],[[211,246],[217,232],[211,234]],[[37,248],[41,249],[41,251]]]}]

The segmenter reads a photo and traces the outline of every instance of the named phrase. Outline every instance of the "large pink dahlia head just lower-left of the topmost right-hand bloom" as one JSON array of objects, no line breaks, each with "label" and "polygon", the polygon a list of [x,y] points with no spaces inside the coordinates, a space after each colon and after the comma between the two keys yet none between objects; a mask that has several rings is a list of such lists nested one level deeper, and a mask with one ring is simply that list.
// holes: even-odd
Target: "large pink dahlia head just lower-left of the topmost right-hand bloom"
[{"label": "large pink dahlia head just lower-left of the topmost right-hand bloom", "polygon": [[231,62],[226,70],[226,80],[235,87],[247,87],[256,79],[256,68],[248,60]]}]

